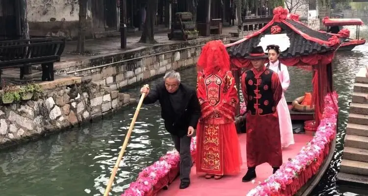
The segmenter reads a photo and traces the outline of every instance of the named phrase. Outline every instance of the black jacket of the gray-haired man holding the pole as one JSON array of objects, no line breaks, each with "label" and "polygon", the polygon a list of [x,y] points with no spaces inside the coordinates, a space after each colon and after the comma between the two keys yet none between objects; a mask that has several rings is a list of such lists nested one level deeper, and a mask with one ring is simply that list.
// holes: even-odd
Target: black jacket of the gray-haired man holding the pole
[{"label": "black jacket of the gray-haired man holding the pole", "polygon": [[[159,101],[161,105],[161,117],[165,121],[166,130],[179,137],[188,133],[188,127],[197,127],[201,116],[201,107],[197,98],[197,92],[184,84],[174,94],[167,92],[164,81],[158,83],[155,88],[144,98],[144,104]],[[174,105],[177,104],[177,105]],[[174,107],[173,107],[174,105]]]}]

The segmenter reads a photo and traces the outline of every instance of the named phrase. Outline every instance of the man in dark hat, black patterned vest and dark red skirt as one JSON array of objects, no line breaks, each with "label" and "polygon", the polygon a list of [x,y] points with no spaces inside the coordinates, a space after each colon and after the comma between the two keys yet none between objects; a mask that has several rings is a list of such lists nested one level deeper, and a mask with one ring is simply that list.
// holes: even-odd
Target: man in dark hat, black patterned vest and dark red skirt
[{"label": "man in dark hat, black patterned vest and dark red skirt", "polygon": [[242,178],[249,182],[257,177],[256,166],[268,163],[275,173],[282,165],[282,147],[277,104],[282,98],[278,74],[264,66],[268,55],[262,47],[252,49],[249,56],[252,69],[241,76],[246,103],[247,166]]}]

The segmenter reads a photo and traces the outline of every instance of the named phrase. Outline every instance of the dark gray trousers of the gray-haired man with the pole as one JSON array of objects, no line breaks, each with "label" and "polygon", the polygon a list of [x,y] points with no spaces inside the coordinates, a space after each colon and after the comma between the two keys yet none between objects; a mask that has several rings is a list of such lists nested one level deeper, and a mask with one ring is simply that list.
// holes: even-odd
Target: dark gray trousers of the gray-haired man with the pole
[{"label": "dark gray trousers of the gray-haired man with the pole", "polygon": [[176,150],[180,152],[180,179],[189,181],[190,169],[192,168],[192,156],[190,154],[190,142],[192,137],[184,135],[182,138],[171,135]]}]

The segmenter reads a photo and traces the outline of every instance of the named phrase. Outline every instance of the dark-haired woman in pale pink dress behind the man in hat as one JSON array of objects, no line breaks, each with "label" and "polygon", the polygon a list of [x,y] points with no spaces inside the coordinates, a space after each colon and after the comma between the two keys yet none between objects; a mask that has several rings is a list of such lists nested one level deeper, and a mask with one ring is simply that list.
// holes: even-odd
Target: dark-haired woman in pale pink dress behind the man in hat
[{"label": "dark-haired woman in pale pink dress behind the man in hat", "polygon": [[283,88],[282,98],[277,105],[277,113],[279,115],[281,146],[283,148],[289,147],[294,143],[294,136],[292,133],[292,124],[290,119],[289,107],[285,99],[285,91],[288,90],[290,84],[289,72],[286,65],[280,63],[278,60],[280,55],[280,47],[276,45],[267,46],[268,59],[266,67],[279,75],[281,86]]}]

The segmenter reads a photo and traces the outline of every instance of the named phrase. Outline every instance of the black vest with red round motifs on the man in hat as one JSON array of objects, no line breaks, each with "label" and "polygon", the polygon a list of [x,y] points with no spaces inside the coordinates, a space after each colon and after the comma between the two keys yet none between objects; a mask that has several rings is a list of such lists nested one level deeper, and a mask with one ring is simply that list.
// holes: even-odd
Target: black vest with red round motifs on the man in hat
[{"label": "black vest with red round motifs on the man in hat", "polygon": [[276,111],[271,89],[272,74],[272,70],[265,69],[260,77],[256,78],[256,75],[253,73],[252,70],[248,70],[246,72],[244,82],[247,87],[248,94],[248,113],[252,115],[259,114],[260,116],[263,116],[267,114],[272,114]]}]

